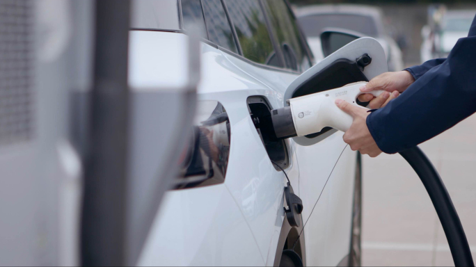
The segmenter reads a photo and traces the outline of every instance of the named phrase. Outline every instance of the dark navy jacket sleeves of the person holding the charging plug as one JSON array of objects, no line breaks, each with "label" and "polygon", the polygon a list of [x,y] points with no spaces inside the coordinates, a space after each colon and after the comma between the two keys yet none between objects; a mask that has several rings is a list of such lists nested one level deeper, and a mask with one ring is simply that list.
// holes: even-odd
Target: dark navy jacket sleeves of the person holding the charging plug
[{"label": "dark navy jacket sleeves of the person holding the charging plug", "polygon": [[476,17],[468,37],[459,39],[447,58],[406,70],[415,82],[367,117],[370,133],[386,153],[425,142],[476,112]]}]

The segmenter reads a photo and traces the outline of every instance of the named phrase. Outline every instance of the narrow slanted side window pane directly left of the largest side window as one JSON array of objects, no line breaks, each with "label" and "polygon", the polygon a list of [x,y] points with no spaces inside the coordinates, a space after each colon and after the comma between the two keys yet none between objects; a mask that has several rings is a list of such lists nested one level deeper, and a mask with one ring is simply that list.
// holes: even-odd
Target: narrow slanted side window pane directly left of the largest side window
[{"label": "narrow slanted side window pane directly left of the largest side window", "polygon": [[221,0],[203,0],[202,3],[208,40],[237,53],[237,44],[235,38],[233,38],[230,22],[228,22]]}]

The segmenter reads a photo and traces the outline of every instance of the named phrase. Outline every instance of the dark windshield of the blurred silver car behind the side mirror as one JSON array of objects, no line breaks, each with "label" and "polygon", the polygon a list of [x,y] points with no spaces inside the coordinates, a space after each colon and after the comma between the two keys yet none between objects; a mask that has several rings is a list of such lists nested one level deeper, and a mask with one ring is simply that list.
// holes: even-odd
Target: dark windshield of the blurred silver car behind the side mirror
[{"label": "dark windshield of the blurred silver car behind the side mirror", "polygon": [[324,28],[342,28],[377,37],[378,31],[372,17],[353,14],[319,14],[300,17],[299,22],[309,37],[319,37]]}]

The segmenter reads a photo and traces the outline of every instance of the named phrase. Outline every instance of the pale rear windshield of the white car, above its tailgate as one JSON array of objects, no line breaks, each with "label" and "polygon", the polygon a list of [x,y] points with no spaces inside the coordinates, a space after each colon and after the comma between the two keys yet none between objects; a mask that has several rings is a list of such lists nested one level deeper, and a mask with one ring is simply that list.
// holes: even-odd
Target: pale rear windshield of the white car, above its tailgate
[{"label": "pale rear windshield of the white car, above its tailgate", "polygon": [[132,1],[131,27],[180,30],[177,0]]}]

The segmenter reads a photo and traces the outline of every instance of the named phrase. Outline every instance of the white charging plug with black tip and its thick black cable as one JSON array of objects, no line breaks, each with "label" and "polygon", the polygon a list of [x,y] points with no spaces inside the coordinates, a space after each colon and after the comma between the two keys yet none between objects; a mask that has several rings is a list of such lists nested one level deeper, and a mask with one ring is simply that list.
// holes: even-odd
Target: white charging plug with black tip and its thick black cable
[{"label": "white charging plug with black tip and its thick black cable", "polygon": [[[317,133],[325,127],[347,131],[351,127],[353,118],[335,105],[335,99],[346,100],[349,104],[358,106],[357,97],[362,93],[360,86],[364,83],[351,83],[341,88],[289,99],[287,101],[289,106],[271,111],[271,121],[276,137],[283,139],[306,136]],[[381,92],[370,93],[377,97]],[[299,143],[298,140],[296,143]],[[445,231],[455,266],[474,266],[463,226],[438,172],[418,147],[400,152],[400,154],[415,170],[427,189]],[[289,189],[292,188],[289,186]]]}]

